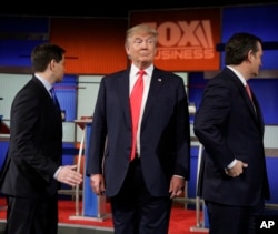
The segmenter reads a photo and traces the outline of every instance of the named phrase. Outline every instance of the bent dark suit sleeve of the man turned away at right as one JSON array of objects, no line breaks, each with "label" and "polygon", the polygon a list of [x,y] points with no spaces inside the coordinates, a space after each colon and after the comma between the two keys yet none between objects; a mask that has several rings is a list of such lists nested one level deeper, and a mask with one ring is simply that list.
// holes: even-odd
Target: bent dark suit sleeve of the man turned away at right
[{"label": "bent dark suit sleeve of the man turned away at right", "polygon": [[222,134],[230,109],[231,93],[228,84],[211,80],[197,110],[193,131],[214,162],[222,169],[235,160]]}]

